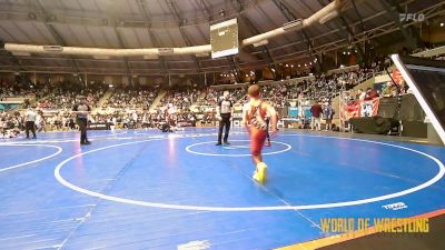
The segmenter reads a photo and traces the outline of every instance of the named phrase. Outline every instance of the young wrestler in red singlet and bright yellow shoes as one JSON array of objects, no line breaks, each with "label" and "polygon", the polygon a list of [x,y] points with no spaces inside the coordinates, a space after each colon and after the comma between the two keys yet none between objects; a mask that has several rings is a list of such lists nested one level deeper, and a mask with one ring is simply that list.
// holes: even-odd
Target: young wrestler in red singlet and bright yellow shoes
[{"label": "young wrestler in red singlet and bright yellow shoes", "polygon": [[243,108],[243,124],[249,131],[250,153],[256,166],[254,180],[263,183],[266,181],[267,166],[263,162],[261,150],[267,136],[266,117],[270,119],[270,132],[277,131],[277,113],[275,109],[259,98],[259,86],[253,84],[248,89],[249,101]]}]

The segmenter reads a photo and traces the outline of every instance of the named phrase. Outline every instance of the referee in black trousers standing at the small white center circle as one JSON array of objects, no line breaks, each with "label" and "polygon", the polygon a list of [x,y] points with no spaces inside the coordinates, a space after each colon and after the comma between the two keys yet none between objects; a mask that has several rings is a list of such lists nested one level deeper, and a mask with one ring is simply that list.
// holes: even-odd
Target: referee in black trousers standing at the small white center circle
[{"label": "referee in black trousers standing at the small white center circle", "polygon": [[226,128],[224,134],[224,143],[230,144],[228,142],[229,130],[230,130],[230,120],[234,116],[234,104],[229,100],[229,92],[225,91],[222,99],[218,102],[218,107],[216,108],[216,118],[219,120],[219,131],[218,131],[218,143],[216,146],[220,146],[222,139],[222,129]]}]

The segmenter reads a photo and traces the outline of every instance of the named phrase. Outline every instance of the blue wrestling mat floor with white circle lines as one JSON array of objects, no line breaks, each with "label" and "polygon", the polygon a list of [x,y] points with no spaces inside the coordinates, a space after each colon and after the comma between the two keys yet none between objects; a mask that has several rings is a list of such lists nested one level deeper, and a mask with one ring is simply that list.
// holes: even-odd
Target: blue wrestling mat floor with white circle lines
[{"label": "blue wrestling mat floor with white circle lines", "polygon": [[229,147],[214,128],[89,138],[0,143],[0,249],[274,249],[329,236],[322,218],[445,208],[444,147],[284,131],[260,186],[240,130]]}]

